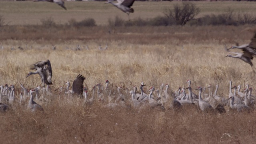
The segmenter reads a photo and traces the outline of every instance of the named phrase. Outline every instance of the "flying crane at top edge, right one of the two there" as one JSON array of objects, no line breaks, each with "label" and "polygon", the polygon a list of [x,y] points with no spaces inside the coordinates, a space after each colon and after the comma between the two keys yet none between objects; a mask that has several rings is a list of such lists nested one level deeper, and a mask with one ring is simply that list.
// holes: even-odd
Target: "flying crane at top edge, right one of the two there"
[{"label": "flying crane at top edge, right one of the two there", "polygon": [[126,14],[128,14],[128,18],[130,20],[130,12],[133,13],[134,9],[131,8],[132,4],[134,3],[135,0],[118,0],[117,3],[112,2],[112,0],[108,0],[105,4],[113,4],[116,6],[119,10],[122,10]]}]

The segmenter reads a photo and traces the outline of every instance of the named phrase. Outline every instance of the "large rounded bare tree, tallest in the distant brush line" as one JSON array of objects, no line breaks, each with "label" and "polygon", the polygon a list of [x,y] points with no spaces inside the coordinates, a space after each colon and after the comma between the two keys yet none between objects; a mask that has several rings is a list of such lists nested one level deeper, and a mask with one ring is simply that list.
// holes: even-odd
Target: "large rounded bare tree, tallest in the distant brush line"
[{"label": "large rounded bare tree, tallest in the distant brush line", "polygon": [[185,25],[188,21],[192,20],[200,9],[191,2],[182,2],[182,6],[176,4],[174,9],[167,9],[164,13],[168,18],[173,18],[178,25]]}]

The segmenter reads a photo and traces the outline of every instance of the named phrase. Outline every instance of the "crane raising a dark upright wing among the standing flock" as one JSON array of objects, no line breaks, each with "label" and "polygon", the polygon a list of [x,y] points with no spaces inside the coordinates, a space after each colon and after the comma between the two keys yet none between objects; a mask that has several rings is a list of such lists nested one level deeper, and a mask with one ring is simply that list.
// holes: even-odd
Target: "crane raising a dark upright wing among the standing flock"
[{"label": "crane raising a dark upright wing among the standing flock", "polygon": [[73,84],[72,84],[72,90],[68,90],[70,82],[66,82],[67,86],[67,90],[68,93],[71,94],[77,94],[78,96],[82,96],[83,94],[83,84],[84,84],[84,80],[86,78],[84,78],[84,76],[82,76],[82,74],[78,74],[78,76],[76,77],[76,79],[74,80]]}]

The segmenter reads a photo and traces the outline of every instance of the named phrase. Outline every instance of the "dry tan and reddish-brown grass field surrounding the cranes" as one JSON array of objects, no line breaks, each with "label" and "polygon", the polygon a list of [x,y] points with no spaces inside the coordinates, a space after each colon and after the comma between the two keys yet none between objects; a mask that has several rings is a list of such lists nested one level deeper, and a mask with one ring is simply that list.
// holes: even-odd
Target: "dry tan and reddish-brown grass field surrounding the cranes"
[{"label": "dry tan and reddish-brown grass field surrounding the cranes", "polygon": [[[101,8],[96,7],[98,3]],[[156,4],[164,7],[166,3],[171,5],[175,2],[135,2],[135,13],[131,17],[149,18],[154,16],[152,13],[162,14],[160,7],[156,12],[146,8]],[[148,106],[137,109],[131,106],[128,93],[133,86],[139,88],[143,81],[147,94],[151,86],[158,89],[162,83],[170,85],[168,93],[171,94],[178,87],[186,87],[189,79],[192,80],[193,91],[198,86],[212,84],[215,88],[219,84],[218,94],[228,98],[229,81],[232,80],[234,85],[241,84],[242,88],[250,84],[255,95],[256,79],[250,65],[234,58],[224,58],[227,54],[224,44],[229,47],[236,42],[249,43],[253,33],[246,28],[253,26],[110,28],[103,25],[108,18],[126,14],[111,5],[105,8],[103,2],[65,4],[68,11],[50,3],[0,2],[0,15],[4,15],[10,25],[15,25],[0,27],[0,46],[4,47],[0,50],[0,84],[13,84],[19,102],[20,84],[28,89],[41,84],[38,75],[25,78],[30,64],[47,59],[52,64],[54,83],[51,85],[52,95],[46,96],[47,101],[35,100],[44,108],[43,113],[30,112],[28,102],[22,105],[14,102],[7,112],[0,112],[2,143],[256,143],[256,112],[253,106],[250,112],[240,113],[226,106],[224,114],[205,114],[194,106],[184,106],[178,111],[167,106],[164,110]],[[87,10],[87,4],[92,4],[90,10]],[[222,4],[252,6],[250,2],[197,4],[209,7],[202,9],[203,13],[214,12]],[[32,8],[32,12],[25,8],[26,5]],[[15,10],[10,12],[9,9]],[[94,15],[90,16],[90,12]],[[62,16],[56,22],[67,22],[72,17],[77,20],[94,17],[102,26],[61,29],[32,25],[48,16],[56,18],[58,14]],[[67,16],[63,17],[63,14]],[[75,50],[77,44],[82,50]],[[99,44],[102,47],[108,44],[108,50],[99,50]],[[52,45],[56,50],[52,50]],[[89,50],[82,47],[86,45]],[[18,46],[24,50],[19,50]],[[10,50],[12,47],[16,50]],[[104,84],[105,80],[110,80],[113,91],[118,86],[124,88],[122,93],[127,107],[106,108],[106,102],[98,101],[86,105],[83,99],[68,98],[55,91],[61,86],[66,87],[68,80],[72,84],[78,74],[86,77],[84,86],[88,88],[89,98],[92,87]],[[156,98],[155,93],[154,96]]]}]

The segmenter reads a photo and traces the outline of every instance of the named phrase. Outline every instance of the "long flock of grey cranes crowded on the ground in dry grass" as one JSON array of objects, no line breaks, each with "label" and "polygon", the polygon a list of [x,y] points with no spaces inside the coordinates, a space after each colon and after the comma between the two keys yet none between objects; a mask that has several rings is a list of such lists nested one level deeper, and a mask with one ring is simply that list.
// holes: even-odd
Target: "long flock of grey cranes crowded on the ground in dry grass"
[{"label": "long flock of grey cranes crowded on the ground in dry grass", "polygon": [[[38,74],[41,78],[42,88],[40,86],[27,90],[22,84],[20,90],[20,100],[15,96],[15,87],[14,85],[0,86],[0,110],[7,111],[15,102],[20,103],[20,105],[26,105],[27,108],[32,112],[35,111],[44,111],[42,106],[37,102],[46,101],[44,98],[45,95],[54,96],[56,93],[52,93],[49,85],[52,83],[52,67],[50,60],[35,62],[30,67],[31,70],[36,72],[29,72],[28,76],[32,74]],[[27,77],[28,77],[27,76]],[[79,74],[72,83],[72,90],[69,89],[70,82],[66,82],[67,87],[59,88],[59,96],[66,95],[66,98],[83,98],[84,104],[91,105],[95,102],[100,102],[106,104],[107,108],[115,108],[117,106],[134,108],[143,108],[144,106],[149,106],[150,108],[170,108],[178,110],[184,105],[197,106],[203,112],[226,112],[224,106],[230,106],[230,108],[237,110],[238,112],[244,110],[250,110],[254,108],[254,96],[252,96],[252,88],[247,84],[244,90],[241,92],[241,86],[232,86],[232,81],[230,81],[229,87],[229,97],[225,98],[218,96],[218,85],[216,85],[214,94],[211,92],[212,86],[198,87],[196,90],[198,92],[192,92],[191,80],[188,80],[188,86],[186,88],[178,88],[177,91],[169,93],[168,89],[170,86],[168,84],[161,84],[159,89],[156,90],[152,86],[148,92],[144,91],[146,86],[144,82],[140,84],[140,93],[137,92],[137,87],[133,88],[122,88],[118,86],[115,90],[114,85],[110,86],[110,81],[106,80],[105,86],[102,84],[96,84],[92,87],[92,94],[88,96],[88,88],[84,87],[84,76]],[[45,88],[45,84],[47,85]],[[238,88],[238,89],[237,89]],[[96,91],[97,89],[97,91]],[[209,89],[209,93],[206,94],[205,90]],[[232,92],[234,89],[234,92]],[[57,89],[58,90],[58,89]],[[188,92],[186,92],[188,91]],[[244,93],[243,93],[244,92]],[[154,94],[156,94],[154,96]],[[197,95],[198,94],[198,95]],[[34,101],[34,97],[36,101]],[[89,98],[90,97],[90,98]],[[28,100],[29,98],[29,100]],[[27,101],[28,100],[28,101]]]}]

